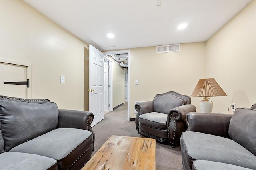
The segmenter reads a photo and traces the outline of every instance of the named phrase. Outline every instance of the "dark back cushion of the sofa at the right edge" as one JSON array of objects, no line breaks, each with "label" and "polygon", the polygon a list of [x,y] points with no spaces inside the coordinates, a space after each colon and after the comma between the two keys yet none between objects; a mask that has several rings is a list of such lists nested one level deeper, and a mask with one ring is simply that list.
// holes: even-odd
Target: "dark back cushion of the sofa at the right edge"
[{"label": "dark back cushion of the sofa at the right edge", "polygon": [[256,109],[237,108],[228,133],[232,140],[256,155]]}]

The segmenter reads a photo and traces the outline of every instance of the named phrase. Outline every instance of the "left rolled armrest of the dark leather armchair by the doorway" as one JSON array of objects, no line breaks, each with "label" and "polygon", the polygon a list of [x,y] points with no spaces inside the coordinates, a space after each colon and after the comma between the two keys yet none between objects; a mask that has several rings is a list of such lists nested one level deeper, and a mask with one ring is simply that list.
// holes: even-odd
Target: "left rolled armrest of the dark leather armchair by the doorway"
[{"label": "left rolled armrest of the dark leather armchair by the doorway", "polygon": [[139,131],[139,116],[144,113],[153,112],[154,111],[154,103],[153,103],[153,101],[145,101],[145,102],[141,102],[141,103],[136,103],[135,110],[138,112],[135,117],[135,125],[136,125],[136,130]]}]

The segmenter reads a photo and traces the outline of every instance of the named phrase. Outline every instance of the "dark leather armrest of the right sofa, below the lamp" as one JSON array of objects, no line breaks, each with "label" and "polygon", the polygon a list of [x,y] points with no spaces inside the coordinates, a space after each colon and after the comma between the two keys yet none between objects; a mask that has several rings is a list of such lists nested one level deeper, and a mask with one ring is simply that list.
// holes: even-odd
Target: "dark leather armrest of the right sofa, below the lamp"
[{"label": "dark leather armrest of the right sofa, below the lamp", "polygon": [[202,132],[229,138],[228,127],[233,115],[222,113],[188,113],[187,131]]}]

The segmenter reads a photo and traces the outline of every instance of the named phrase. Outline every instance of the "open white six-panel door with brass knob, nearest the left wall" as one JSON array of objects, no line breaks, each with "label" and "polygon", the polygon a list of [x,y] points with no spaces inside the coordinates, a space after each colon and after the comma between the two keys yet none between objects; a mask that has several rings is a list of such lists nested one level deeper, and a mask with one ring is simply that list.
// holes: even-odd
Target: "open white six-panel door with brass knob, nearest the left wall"
[{"label": "open white six-panel door with brass knob, nearest the left wall", "polygon": [[104,54],[89,45],[89,60],[89,111],[94,114],[94,126],[104,119]]}]

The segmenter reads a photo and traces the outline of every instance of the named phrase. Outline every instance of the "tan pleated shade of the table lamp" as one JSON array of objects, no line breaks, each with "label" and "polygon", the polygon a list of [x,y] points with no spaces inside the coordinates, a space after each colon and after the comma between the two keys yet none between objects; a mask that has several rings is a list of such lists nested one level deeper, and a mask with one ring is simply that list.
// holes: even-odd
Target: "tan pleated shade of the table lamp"
[{"label": "tan pleated shade of the table lamp", "polygon": [[191,96],[226,96],[214,78],[199,79]]}]

